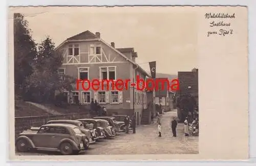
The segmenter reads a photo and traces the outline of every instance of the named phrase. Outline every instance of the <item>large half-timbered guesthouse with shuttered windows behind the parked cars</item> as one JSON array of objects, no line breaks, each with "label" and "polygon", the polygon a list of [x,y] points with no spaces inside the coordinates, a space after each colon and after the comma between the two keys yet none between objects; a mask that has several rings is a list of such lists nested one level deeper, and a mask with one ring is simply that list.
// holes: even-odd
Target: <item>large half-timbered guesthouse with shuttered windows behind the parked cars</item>
[{"label": "large half-timbered guesthouse with shuttered windows behind the parked cars", "polygon": [[[125,88],[123,91],[112,89],[112,85],[116,84],[117,79],[123,81],[130,79],[133,82],[133,78],[136,79],[137,75],[143,80],[150,77],[135,62],[138,55],[134,48],[115,48],[115,43],[109,44],[103,41],[99,32],[93,34],[90,31],[85,31],[63,41],[56,50],[60,50],[64,57],[59,73],[77,79],[88,79],[91,83],[93,79],[99,80],[98,91],[93,91],[92,86],[89,87],[87,82],[84,83],[84,87],[88,88],[85,91],[80,82],[78,90],[74,85],[72,93],[63,92],[66,93],[68,102],[84,104],[90,108],[90,102],[94,99],[101,106],[106,107],[108,114],[131,116],[135,112],[137,122],[140,122],[143,103],[146,103],[146,92],[133,91],[131,84],[127,85],[127,90]],[[102,87],[103,79],[113,79],[113,81],[103,81],[104,86]],[[106,87],[109,87],[109,90]],[[135,98],[134,108],[133,98]]]}]

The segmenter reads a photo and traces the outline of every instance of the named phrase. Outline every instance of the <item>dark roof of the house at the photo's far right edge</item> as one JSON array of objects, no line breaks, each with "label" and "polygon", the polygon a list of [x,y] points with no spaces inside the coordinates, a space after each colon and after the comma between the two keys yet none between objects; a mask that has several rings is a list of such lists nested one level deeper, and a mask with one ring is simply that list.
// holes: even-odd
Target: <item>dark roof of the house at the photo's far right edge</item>
[{"label": "dark roof of the house at the photo's far right edge", "polygon": [[198,72],[197,71],[183,71],[178,72],[179,91],[177,97],[190,94],[191,96],[198,96]]}]

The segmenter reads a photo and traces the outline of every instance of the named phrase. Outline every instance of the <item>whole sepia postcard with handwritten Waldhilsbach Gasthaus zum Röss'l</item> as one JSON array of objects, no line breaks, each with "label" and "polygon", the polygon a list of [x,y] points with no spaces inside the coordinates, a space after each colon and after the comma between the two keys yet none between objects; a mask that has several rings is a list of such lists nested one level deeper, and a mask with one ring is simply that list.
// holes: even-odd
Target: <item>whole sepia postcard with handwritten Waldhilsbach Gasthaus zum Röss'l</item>
[{"label": "whole sepia postcard with handwritten Waldhilsbach Gasthaus zum R\u00f6ss'l", "polygon": [[8,14],[10,160],[248,158],[246,7]]}]

